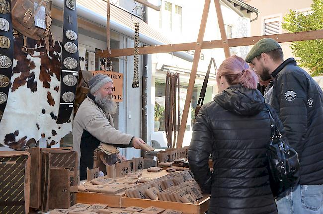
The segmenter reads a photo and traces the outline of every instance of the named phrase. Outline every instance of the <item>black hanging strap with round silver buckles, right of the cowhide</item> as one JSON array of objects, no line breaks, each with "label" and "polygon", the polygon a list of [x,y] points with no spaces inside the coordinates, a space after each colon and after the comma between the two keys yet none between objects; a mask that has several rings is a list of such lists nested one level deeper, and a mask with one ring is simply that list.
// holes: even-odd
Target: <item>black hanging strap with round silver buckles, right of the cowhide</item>
[{"label": "black hanging strap with round silver buckles, right of the cowhide", "polygon": [[[74,9],[67,6],[71,4]],[[66,45],[73,43],[76,47],[78,42],[78,17],[76,11],[76,0],[64,0],[63,9],[63,43],[62,43],[62,58],[61,58],[61,100],[60,108],[57,116],[57,124],[71,122],[75,94],[77,88],[77,79],[79,77],[79,50],[76,53],[70,53],[65,50]],[[69,31],[68,33],[66,33]],[[72,32],[73,31],[73,32]],[[73,36],[71,36],[72,34]],[[68,36],[67,36],[68,35]],[[71,42],[71,43],[70,43]],[[68,44],[67,44],[68,43]],[[71,45],[73,45],[71,44]],[[73,46],[74,46],[73,45]],[[76,77],[76,78],[75,78]],[[76,79],[76,81],[75,81]]]}]

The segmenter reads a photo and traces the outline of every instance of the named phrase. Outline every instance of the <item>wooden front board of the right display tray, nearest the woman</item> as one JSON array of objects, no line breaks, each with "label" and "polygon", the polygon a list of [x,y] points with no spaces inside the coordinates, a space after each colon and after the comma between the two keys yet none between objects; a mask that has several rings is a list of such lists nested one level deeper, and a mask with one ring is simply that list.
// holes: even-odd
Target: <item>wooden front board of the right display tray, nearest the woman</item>
[{"label": "wooden front board of the right display tray, nearest the woman", "polygon": [[183,214],[204,214],[209,207],[210,195],[204,195],[198,202],[198,204],[189,203],[178,203],[178,202],[167,202],[157,201],[151,199],[135,199],[122,197],[121,206],[124,208],[136,206],[142,208],[148,208],[155,206],[163,209],[172,209],[182,211]]}]

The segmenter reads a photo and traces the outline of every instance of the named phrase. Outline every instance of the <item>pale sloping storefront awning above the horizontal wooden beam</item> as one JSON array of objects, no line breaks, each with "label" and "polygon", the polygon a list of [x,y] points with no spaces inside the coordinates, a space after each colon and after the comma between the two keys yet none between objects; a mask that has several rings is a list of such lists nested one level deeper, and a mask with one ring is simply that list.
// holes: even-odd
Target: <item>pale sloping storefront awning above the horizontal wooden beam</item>
[{"label": "pale sloping storefront awning above the horizontal wooden beam", "polygon": [[[53,5],[63,8],[64,0],[53,0]],[[103,0],[77,0],[78,16],[84,20],[94,22],[102,27],[106,27],[107,3]],[[134,20],[139,20],[133,17]],[[163,37],[156,30],[152,29],[145,22],[139,25],[139,40],[145,45],[171,44],[171,41]],[[134,23],[131,14],[113,4],[110,4],[110,30],[116,31],[126,37],[134,37]],[[174,52],[174,56],[193,62],[193,57],[184,52]]]}]

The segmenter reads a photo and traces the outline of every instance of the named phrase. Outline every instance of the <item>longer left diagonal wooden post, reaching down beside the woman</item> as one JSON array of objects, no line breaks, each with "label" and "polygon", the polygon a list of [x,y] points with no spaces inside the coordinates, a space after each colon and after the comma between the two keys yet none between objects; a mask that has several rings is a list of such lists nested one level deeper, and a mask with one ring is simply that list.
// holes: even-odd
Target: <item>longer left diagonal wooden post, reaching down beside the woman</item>
[{"label": "longer left diagonal wooden post, reaching down beside the woman", "polygon": [[189,77],[187,94],[186,94],[185,105],[184,105],[184,110],[183,110],[183,116],[182,116],[182,120],[180,122],[180,128],[179,128],[179,133],[178,133],[178,138],[177,138],[177,143],[176,143],[177,148],[181,148],[182,144],[183,144],[184,133],[185,133],[185,129],[186,129],[186,122],[187,122],[187,117],[188,117],[188,111],[189,111],[189,106],[190,106],[190,103],[192,100],[193,88],[194,88],[196,72],[197,72],[197,66],[198,66],[198,63],[200,60],[200,54],[201,54],[201,50],[202,50],[202,43],[203,43],[203,38],[204,38],[206,21],[207,21],[208,14],[209,14],[210,2],[211,2],[211,0],[205,0],[205,3],[204,3],[204,9],[203,9],[203,13],[202,13],[200,30],[199,30],[197,42],[195,45],[195,53],[194,53],[192,71],[191,71],[190,77]]}]

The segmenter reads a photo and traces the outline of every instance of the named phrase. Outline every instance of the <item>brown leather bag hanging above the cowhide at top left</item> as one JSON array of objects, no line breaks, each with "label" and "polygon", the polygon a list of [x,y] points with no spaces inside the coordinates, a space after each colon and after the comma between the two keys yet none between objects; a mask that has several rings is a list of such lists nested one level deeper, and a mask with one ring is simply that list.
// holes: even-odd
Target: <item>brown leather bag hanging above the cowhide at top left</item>
[{"label": "brown leather bag hanging above the cowhide at top left", "polygon": [[[11,6],[13,28],[23,35],[24,45],[22,50],[32,57],[41,57],[52,50],[55,45],[50,31],[52,0],[11,0]],[[35,25],[35,14],[41,10],[42,6],[45,7],[45,22],[40,21],[40,23],[45,29]],[[28,48],[27,37],[42,40],[45,47]],[[35,51],[40,52],[39,55],[33,55]]]}]

